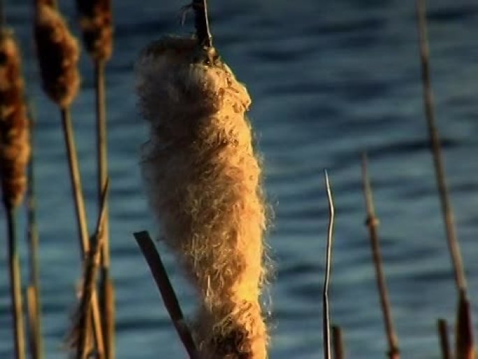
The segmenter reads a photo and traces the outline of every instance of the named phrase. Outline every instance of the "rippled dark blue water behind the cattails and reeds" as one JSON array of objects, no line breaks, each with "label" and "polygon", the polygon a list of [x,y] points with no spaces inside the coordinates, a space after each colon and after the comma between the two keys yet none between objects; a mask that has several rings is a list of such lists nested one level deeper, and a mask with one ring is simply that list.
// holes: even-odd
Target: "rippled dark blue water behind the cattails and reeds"
[{"label": "rippled dark blue water behind the cattails and reeds", "polygon": [[[138,169],[146,139],[136,111],[133,62],[162,34],[188,34],[182,1],[113,1],[115,53],[108,64],[110,217],[117,295],[117,358],[184,358],[132,232],[155,226]],[[75,23],[73,1],[59,1]],[[335,197],[331,287],[333,323],[356,359],[384,357],[361,194],[360,154],[368,150],[380,237],[404,358],[438,358],[438,317],[454,321],[456,295],[421,103],[414,1],[210,0],[215,45],[252,94],[250,113],[265,188],[275,209],[268,234],[275,279],[270,357],[321,356],[321,283],[327,225],[322,171]],[[429,4],[430,50],[438,127],[478,318],[478,5]],[[57,108],[39,85],[31,39],[31,1],[7,0],[8,23],[24,51],[35,143],[41,235],[43,325],[48,358],[65,358],[61,340],[75,302],[79,256]],[[82,92],[73,106],[90,222],[96,217],[92,66],[82,57]],[[91,226],[90,226],[91,227]],[[0,230],[5,225],[0,223]],[[163,248],[163,246],[160,246]],[[0,357],[12,358],[6,255],[0,251]],[[22,258],[27,252],[22,242]],[[194,298],[166,255],[184,310]],[[24,272],[26,279],[27,272]],[[475,325],[476,326],[476,325]]]}]

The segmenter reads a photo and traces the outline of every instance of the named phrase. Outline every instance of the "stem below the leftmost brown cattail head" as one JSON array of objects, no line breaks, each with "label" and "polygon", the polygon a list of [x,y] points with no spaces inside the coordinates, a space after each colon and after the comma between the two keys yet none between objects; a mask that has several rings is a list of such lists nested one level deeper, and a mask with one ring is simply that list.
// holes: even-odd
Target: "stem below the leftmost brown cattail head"
[{"label": "stem below the leftmost brown cattail head", "polygon": [[25,333],[22,307],[22,281],[20,260],[17,251],[15,207],[5,203],[8,226],[8,268],[10,270],[10,298],[13,315],[13,337],[15,340],[15,359],[25,359]]}]

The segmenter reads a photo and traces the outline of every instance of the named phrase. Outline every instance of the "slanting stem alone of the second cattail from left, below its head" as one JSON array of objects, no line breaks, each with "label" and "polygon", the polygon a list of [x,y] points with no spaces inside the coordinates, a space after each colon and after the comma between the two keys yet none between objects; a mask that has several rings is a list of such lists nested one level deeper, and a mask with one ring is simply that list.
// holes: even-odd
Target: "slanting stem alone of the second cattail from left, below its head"
[{"label": "slanting stem alone of the second cattail from left, below its head", "polygon": [[[78,225],[78,237],[80,239],[81,257],[82,260],[84,260],[85,254],[89,252],[87,218],[85,211],[85,201],[82,195],[78,156],[76,154],[75,140],[73,136],[73,126],[71,124],[71,116],[68,108],[61,108],[61,123],[63,125],[64,139],[68,155],[68,166],[70,169],[73,200],[75,202],[75,213]],[[103,331],[101,328],[101,315],[99,311],[99,300],[96,290],[94,290],[92,294],[92,321],[96,350],[98,351],[99,358],[103,358]]]}]

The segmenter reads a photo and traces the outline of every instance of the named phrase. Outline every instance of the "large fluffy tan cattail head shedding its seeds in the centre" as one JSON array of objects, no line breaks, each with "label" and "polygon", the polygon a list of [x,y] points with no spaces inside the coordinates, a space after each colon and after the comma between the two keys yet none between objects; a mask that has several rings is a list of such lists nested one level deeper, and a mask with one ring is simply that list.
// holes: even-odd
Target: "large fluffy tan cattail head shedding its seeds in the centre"
[{"label": "large fluffy tan cattail head shedding its seeds in the centre", "polygon": [[263,359],[266,216],[245,118],[251,100],[209,50],[193,38],[164,38],[140,56],[139,107],[151,132],[143,176],[166,244],[200,296],[201,358]]}]

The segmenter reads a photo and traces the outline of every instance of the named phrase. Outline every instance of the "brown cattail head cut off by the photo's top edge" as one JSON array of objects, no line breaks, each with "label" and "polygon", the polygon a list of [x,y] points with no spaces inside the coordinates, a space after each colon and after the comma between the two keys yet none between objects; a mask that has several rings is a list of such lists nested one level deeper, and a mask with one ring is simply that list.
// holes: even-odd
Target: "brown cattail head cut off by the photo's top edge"
[{"label": "brown cattail head cut off by the photo's top edge", "polygon": [[111,0],[77,0],[80,27],[87,51],[96,61],[106,61],[113,51]]}]

